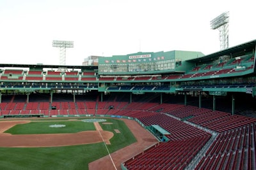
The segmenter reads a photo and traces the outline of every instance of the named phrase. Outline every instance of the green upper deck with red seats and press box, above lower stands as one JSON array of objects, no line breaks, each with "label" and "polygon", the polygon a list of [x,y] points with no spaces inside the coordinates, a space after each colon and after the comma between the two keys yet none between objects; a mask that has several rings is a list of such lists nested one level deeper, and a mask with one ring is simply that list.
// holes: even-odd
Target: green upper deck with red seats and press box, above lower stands
[{"label": "green upper deck with red seats and press box, above lower stands", "polygon": [[93,90],[101,99],[113,92],[212,97],[241,92],[254,97],[255,42],[209,55],[173,50],[99,57],[99,66],[65,66],[63,72],[58,65],[1,64],[0,101],[4,94],[24,92],[29,102],[29,94],[38,90],[74,95]]}]

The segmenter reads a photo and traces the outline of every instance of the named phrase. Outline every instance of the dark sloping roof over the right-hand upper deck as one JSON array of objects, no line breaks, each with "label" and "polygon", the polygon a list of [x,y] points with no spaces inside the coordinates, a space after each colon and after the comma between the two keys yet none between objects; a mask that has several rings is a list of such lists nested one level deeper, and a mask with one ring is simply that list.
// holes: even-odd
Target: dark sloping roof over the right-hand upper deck
[{"label": "dark sloping roof over the right-hand upper deck", "polygon": [[221,50],[219,52],[215,52],[215,53],[211,53],[209,55],[205,55],[204,57],[199,57],[199,58],[196,58],[196,59],[188,60],[188,62],[209,61],[209,60],[218,58],[218,57],[223,56],[223,55],[230,55],[230,53],[237,53],[237,52],[241,52],[243,50],[255,49],[255,45],[256,45],[256,39],[254,39],[252,41],[249,41],[247,43],[243,43],[241,45],[237,45],[237,46],[227,48],[225,50]]}]

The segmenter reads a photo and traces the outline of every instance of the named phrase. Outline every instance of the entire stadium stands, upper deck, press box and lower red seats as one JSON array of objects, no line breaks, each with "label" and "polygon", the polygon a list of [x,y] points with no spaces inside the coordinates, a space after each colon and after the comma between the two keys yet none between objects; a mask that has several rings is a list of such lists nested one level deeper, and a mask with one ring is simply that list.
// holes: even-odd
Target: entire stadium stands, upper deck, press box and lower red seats
[{"label": "entire stadium stands, upper deck, press box and lower red seats", "polygon": [[[118,111],[113,110],[117,108],[140,110],[140,114],[143,110],[145,111],[143,113],[148,115],[141,116],[139,112],[136,112],[132,113],[134,116],[127,113],[125,117],[132,118],[147,127],[159,140],[169,141],[167,144],[159,146],[159,150],[163,149],[164,145],[173,145],[175,142],[183,143],[184,146],[189,143],[190,147],[195,146],[200,150],[209,145],[207,150],[211,153],[208,153],[205,149],[204,158],[198,156],[201,152],[199,149],[193,149],[192,157],[187,160],[179,160],[180,166],[176,165],[175,167],[183,169],[190,165],[200,169],[204,164],[211,167],[211,161],[215,161],[212,158],[216,157],[218,162],[217,160],[216,163],[214,162],[215,167],[224,164],[225,167],[228,167],[227,162],[231,160],[232,164],[236,164],[234,167],[241,167],[241,169],[248,167],[249,169],[249,167],[255,167],[256,156],[255,118],[249,118],[256,115],[254,105],[256,93],[255,48],[256,40],[253,40],[209,55],[204,55],[202,52],[177,50],[113,55],[111,57],[99,57],[99,66],[65,66],[65,69],[62,69],[65,71],[60,71],[59,68],[63,68],[63,66],[58,65],[0,64],[0,116],[1,118],[82,117],[88,115],[122,117],[122,115],[118,115]],[[55,102],[58,101],[58,97],[61,95],[65,96],[62,99],[72,99],[73,104],[68,106],[72,108],[72,111],[63,109],[66,111],[61,112],[63,110],[59,110],[60,104],[58,105]],[[26,97],[23,98],[23,105],[13,102],[15,98],[19,98],[18,96]],[[48,98],[36,99],[37,101],[41,100],[42,103],[46,102],[45,107],[41,108],[40,104],[37,103],[36,111],[34,109],[29,110],[28,106],[33,108],[30,104],[35,101],[33,96],[48,96]],[[86,101],[92,106],[86,106],[85,104],[83,105],[85,107],[82,107],[78,101]],[[116,101],[120,102],[118,106],[115,105]],[[122,101],[127,101],[128,105],[124,104],[121,107]],[[138,104],[136,101],[145,101],[147,104]],[[136,104],[132,104],[134,102]],[[10,103],[12,104],[10,105]],[[104,103],[104,106],[102,103]],[[164,105],[167,103],[179,104]],[[173,109],[164,111],[166,107]],[[20,108],[20,110],[16,108]],[[81,112],[77,111],[77,108]],[[186,111],[180,108],[186,108]],[[84,111],[86,109],[87,111]],[[221,111],[221,109],[225,113],[216,112]],[[161,116],[157,115],[158,113],[161,113]],[[165,113],[168,114],[167,117]],[[179,115],[180,113],[184,115]],[[202,117],[202,121],[205,120],[204,123],[199,121],[200,118],[196,119],[196,117],[208,113],[212,115]],[[220,117],[217,117],[217,115]],[[158,117],[161,121],[169,121],[170,119],[170,122],[175,122],[179,120],[184,127],[189,124],[193,128],[194,126],[201,128],[200,132],[197,132],[199,130],[196,130],[196,128],[188,127],[191,131],[201,134],[198,136],[191,132],[192,136],[189,134],[188,138],[181,139],[177,136],[174,138],[173,134],[175,132],[171,132],[172,129],[167,127],[166,124],[161,125],[163,122],[158,124],[155,122],[156,124],[154,124],[154,121],[147,120],[150,122],[148,123],[145,118],[150,116]],[[222,117],[228,117],[230,124],[222,126],[225,122],[225,120],[219,119]],[[216,119],[219,120],[218,123],[220,123],[220,120],[224,121],[219,128],[214,127],[214,124],[209,124],[209,122]],[[225,126],[228,126],[228,128],[225,128]],[[244,132],[244,129],[247,129],[246,132]],[[184,136],[187,135],[185,131],[182,132]],[[223,148],[221,153],[214,152],[211,147],[217,147],[218,149],[218,142],[220,141],[217,138],[220,138],[220,136],[224,138],[227,132],[229,134],[234,133],[230,136],[241,136],[237,141],[225,143],[225,146],[226,144],[232,145],[232,149],[227,146],[228,150]],[[244,139],[243,148],[239,143],[242,138]],[[198,140],[200,146],[195,143],[195,139]],[[182,148],[180,145],[179,147]],[[189,150],[189,148],[186,149]],[[188,153],[182,154],[186,155]],[[173,155],[173,159],[174,157]],[[195,161],[196,158],[197,161]],[[242,159],[243,164],[236,162]],[[122,164],[122,168],[149,168],[146,167],[148,162],[141,162],[139,159],[136,162],[135,160],[134,157],[127,160],[125,164]],[[159,162],[161,160],[157,161],[151,168],[163,166],[163,164],[160,166]],[[193,165],[191,165],[191,162],[194,162]],[[164,167],[168,166],[164,164],[163,169]]]}]

